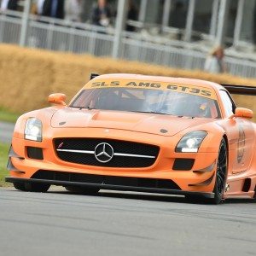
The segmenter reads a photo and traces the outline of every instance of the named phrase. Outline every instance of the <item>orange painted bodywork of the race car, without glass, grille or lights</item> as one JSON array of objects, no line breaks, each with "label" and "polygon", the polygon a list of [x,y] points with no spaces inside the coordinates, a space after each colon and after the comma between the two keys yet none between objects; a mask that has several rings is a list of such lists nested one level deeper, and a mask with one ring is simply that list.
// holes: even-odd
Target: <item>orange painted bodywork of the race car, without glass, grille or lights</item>
[{"label": "orange painted bodywork of the race car, without glass, grille or lights", "polygon": [[[165,84],[167,86],[168,83],[177,86],[186,84],[188,88],[199,86],[199,88],[210,91],[211,97],[218,100],[221,118],[191,119],[156,113],[79,110],[64,105],[26,113],[18,119],[15,125],[12,140],[15,156],[10,156],[11,163],[14,166],[13,170],[10,170],[11,177],[30,178],[38,170],[46,170],[103,176],[157,178],[172,180],[184,191],[212,192],[215,183],[219,144],[224,137],[228,145],[228,185],[224,197],[241,195],[253,197],[256,187],[255,124],[243,118],[229,119],[225,112],[224,102],[222,102],[218,92],[224,90],[222,86],[195,79],[114,74],[99,76],[91,80],[84,88],[101,86],[102,80],[106,80],[108,82],[106,84],[111,84],[111,81],[120,81],[120,84],[127,84],[127,81],[143,81],[144,83],[154,84],[154,86],[156,86],[155,84]],[[108,86],[106,84],[103,85]],[[193,94],[194,92],[195,89],[188,90],[188,93]],[[42,142],[34,142],[24,138],[26,120],[32,117],[42,121]],[[161,132],[161,129],[165,129],[166,133]],[[198,152],[175,152],[177,143],[185,134],[189,131],[201,130],[207,131],[207,137],[201,143]],[[68,137],[146,143],[158,146],[160,152],[154,164],[148,167],[119,168],[81,165],[61,160],[56,154],[54,139]],[[27,147],[43,148],[44,160],[35,160],[28,157]],[[188,171],[173,170],[174,161],[177,159],[192,159],[195,161]]]}]

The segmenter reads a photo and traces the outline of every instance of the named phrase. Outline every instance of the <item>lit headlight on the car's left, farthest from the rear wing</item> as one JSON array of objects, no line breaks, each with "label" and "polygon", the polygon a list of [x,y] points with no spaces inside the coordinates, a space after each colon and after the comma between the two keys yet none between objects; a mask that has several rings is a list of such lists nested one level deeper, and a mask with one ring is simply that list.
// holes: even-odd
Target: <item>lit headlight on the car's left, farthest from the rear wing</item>
[{"label": "lit headlight on the car's left, farthest from the rear wing", "polygon": [[25,138],[36,142],[42,142],[42,122],[36,118],[26,120]]}]

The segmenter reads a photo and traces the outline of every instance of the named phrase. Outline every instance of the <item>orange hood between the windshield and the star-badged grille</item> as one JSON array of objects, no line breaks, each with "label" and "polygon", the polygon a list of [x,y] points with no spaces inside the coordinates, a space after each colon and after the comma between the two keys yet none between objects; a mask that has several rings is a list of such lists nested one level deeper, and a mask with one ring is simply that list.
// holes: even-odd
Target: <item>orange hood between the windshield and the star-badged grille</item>
[{"label": "orange hood between the windshield and the star-badged grille", "polygon": [[62,108],[52,116],[51,126],[54,128],[118,129],[173,136],[191,126],[202,125],[211,121],[212,119],[181,118],[156,113]]}]

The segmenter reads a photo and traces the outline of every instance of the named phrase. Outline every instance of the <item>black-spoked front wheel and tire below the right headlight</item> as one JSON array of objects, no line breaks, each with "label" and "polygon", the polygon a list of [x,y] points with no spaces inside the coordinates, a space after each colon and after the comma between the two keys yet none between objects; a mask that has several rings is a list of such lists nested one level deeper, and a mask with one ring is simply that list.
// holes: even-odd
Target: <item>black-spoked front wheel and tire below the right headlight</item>
[{"label": "black-spoked front wheel and tire below the right headlight", "polygon": [[215,204],[218,205],[221,201],[223,201],[224,189],[227,179],[227,144],[222,138],[219,149],[218,149],[218,161],[217,161],[217,169],[216,169],[216,178],[214,184],[214,197],[213,198],[203,198],[198,195],[186,195],[186,199],[188,201],[192,201],[195,203],[207,203],[207,204]]}]

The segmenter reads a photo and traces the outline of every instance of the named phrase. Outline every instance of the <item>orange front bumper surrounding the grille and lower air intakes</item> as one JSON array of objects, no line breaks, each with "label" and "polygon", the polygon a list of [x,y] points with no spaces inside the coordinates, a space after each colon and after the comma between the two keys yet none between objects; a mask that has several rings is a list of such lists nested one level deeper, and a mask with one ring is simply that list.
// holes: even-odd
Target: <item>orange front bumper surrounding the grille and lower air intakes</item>
[{"label": "orange front bumper surrounding the grille and lower air intakes", "polygon": [[[143,134],[134,131],[109,131],[108,135],[102,129],[77,129],[73,130],[73,137],[106,137],[117,140],[131,141],[137,143],[155,144],[160,147],[160,153],[153,166],[143,168],[117,168],[117,167],[102,167],[102,166],[85,166],[75,163],[60,160],[55,154],[55,148],[52,141],[53,137],[67,136],[66,129],[56,129],[56,132],[51,132],[49,136],[44,136],[42,143],[27,141],[20,137],[14,137],[12,141],[15,154],[11,155],[11,167],[9,168],[10,177],[7,177],[8,182],[13,182],[15,178],[23,181],[32,180],[33,175],[39,170],[46,170],[49,172],[72,172],[79,174],[89,174],[108,177],[135,177],[135,178],[148,178],[148,179],[165,179],[172,180],[181,189],[178,195],[183,195],[183,191],[211,193],[215,182],[216,170],[216,156],[218,153],[213,152],[198,152],[198,153],[176,153],[170,148],[175,148],[178,139],[174,137],[161,137],[152,134]],[[85,131],[86,130],[86,131]],[[88,131],[87,131],[88,130]],[[51,131],[54,131],[52,129]],[[34,160],[28,157],[26,148],[38,147],[42,148],[44,153],[44,160]],[[195,159],[193,168],[189,171],[173,170],[172,166],[176,159]],[[208,168],[212,166],[212,168]],[[38,179],[39,180],[39,179]],[[35,181],[35,182],[38,182]],[[44,180],[44,179],[43,179]],[[34,181],[33,181],[34,182]],[[42,181],[43,182],[43,181]],[[45,181],[49,183],[48,181]],[[59,183],[60,182],[60,183]],[[67,181],[62,181],[64,185]],[[79,182],[76,181],[76,182]],[[61,184],[61,181],[54,181],[52,184]],[[97,184],[103,188],[106,184]],[[119,184],[108,184],[108,186],[120,187]],[[128,186],[130,188],[130,186]],[[104,187],[105,188],[105,187]],[[134,188],[134,186],[131,186]],[[131,190],[131,188],[129,190]],[[135,187],[135,191],[143,191],[139,187]],[[109,188],[108,188],[109,189]],[[127,189],[127,187],[125,187]],[[142,188],[150,189],[150,191],[158,190],[157,188]],[[167,189],[168,191],[173,189]],[[174,189],[175,190],[175,189]],[[133,190],[132,190],[133,191]],[[162,191],[162,190],[160,190]],[[157,191],[153,191],[157,192]],[[160,192],[162,193],[162,192]],[[165,193],[165,192],[163,192]],[[167,193],[173,194],[173,193]],[[177,194],[176,192],[174,194]]]}]

